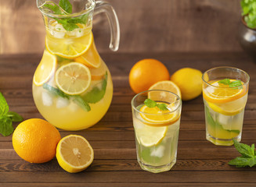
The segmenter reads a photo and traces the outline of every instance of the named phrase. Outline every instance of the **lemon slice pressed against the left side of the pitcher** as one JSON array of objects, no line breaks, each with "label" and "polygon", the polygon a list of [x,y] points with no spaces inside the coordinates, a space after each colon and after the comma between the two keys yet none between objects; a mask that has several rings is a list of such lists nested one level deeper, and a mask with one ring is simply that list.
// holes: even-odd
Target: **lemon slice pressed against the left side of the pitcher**
[{"label": "lemon slice pressed against the left side of the pitcher", "polygon": [[38,68],[34,72],[33,83],[41,86],[46,83],[56,71],[57,58],[45,50]]}]

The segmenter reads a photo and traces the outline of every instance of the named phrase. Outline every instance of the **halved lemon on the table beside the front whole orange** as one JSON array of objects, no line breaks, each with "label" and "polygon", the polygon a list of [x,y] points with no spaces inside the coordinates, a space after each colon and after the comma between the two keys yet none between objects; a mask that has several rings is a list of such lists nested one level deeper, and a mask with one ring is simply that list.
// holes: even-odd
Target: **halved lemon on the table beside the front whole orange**
[{"label": "halved lemon on the table beside the front whole orange", "polygon": [[92,164],[94,152],[83,136],[70,135],[60,139],[56,158],[61,168],[70,173],[77,173]]}]

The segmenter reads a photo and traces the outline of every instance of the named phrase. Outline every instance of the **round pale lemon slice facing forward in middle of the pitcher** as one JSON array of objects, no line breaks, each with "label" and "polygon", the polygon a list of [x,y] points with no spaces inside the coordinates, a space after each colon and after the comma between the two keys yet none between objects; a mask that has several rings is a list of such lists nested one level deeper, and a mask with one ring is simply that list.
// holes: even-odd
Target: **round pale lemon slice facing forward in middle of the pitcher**
[{"label": "round pale lemon slice facing forward in middle of the pitcher", "polygon": [[60,66],[55,78],[59,89],[69,95],[82,94],[91,83],[90,70],[79,62]]}]

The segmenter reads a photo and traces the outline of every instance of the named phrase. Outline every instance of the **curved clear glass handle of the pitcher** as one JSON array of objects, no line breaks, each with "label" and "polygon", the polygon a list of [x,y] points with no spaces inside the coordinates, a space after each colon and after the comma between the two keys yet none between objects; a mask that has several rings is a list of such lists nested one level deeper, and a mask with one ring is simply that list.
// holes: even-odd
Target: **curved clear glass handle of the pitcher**
[{"label": "curved clear glass handle of the pitcher", "polygon": [[94,9],[94,14],[105,12],[107,19],[110,23],[110,49],[112,51],[117,51],[119,48],[119,41],[120,41],[120,28],[119,22],[117,19],[117,14],[114,11],[112,5],[109,2],[105,1],[96,1],[96,8]]}]

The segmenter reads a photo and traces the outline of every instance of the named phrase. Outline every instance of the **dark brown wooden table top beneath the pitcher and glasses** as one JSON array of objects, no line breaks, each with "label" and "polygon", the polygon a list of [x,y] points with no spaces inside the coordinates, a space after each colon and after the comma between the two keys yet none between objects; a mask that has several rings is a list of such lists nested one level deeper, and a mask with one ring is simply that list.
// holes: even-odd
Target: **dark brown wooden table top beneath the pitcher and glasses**
[{"label": "dark brown wooden table top beneath the pitcher and glasses", "polygon": [[[13,150],[12,136],[0,135],[0,186],[255,186],[255,168],[235,168],[228,162],[239,156],[234,146],[215,146],[205,139],[202,96],[183,102],[177,163],[171,171],[142,171],[136,160],[128,72],[142,58],[157,58],[170,73],[182,67],[204,72],[220,65],[234,66],[251,76],[243,123],[242,143],[256,143],[256,63],[240,53],[101,54],[114,81],[114,97],[104,118],[85,136],[95,151],[92,165],[70,174],[54,158],[45,164],[23,161]],[[23,118],[42,118],[32,97],[32,77],[41,55],[0,55],[0,91],[10,110]],[[16,127],[16,123],[14,126]]]}]

